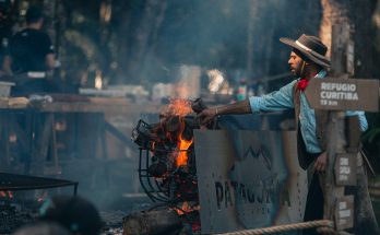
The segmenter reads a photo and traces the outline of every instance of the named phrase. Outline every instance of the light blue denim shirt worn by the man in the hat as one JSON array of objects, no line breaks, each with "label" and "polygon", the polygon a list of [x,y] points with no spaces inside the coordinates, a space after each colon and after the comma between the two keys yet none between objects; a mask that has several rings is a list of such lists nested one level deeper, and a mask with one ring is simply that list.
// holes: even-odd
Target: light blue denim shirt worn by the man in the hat
[{"label": "light blue denim shirt worn by the man in the hat", "polygon": [[[320,71],[316,78],[323,79],[326,77],[324,70]],[[299,79],[298,79],[299,80]],[[278,91],[263,95],[261,97],[252,96],[249,98],[251,110],[256,113],[280,111],[294,108],[293,86],[298,80],[294,80]],[[368,122],[364,111],[346,111],[347,116],[357,115],[363,131],[367,130]],[[300,131],[309,153],[320,153],[322,150],[318,144],[316,137],[316,116],[314,109],[310,108],[304,92],[300,94],[300,114],[299,114]]]}]

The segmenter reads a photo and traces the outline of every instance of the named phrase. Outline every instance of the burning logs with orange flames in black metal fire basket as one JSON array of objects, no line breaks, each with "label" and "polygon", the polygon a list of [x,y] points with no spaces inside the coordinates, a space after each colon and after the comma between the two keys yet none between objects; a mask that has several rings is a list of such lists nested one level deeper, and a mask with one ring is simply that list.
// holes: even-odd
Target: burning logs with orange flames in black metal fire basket
[{"label": "burning logs with orange flames in black metal fire basket", "polygon": [[158,124],[140,120],[132,132],[132,140],[140,146],[139,177],[143,189],[154,202],[165,202],[185,218],[183,227],[190,226],[191,233],[201,228],[193,144],[193,129],[200,129],[200,122],[194,113],[204,108],[201,99],[173,99],[161,113]]}]

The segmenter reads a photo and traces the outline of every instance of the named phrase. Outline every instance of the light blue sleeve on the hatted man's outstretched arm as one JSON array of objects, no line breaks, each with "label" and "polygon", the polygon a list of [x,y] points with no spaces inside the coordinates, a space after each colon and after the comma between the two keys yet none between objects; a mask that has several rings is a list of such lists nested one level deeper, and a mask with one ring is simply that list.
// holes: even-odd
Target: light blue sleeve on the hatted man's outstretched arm
[{"label": "light blue sleeve on the hatted man's outstretched arm", "polygon": [[252,96],[249,98],[251,110],[256,113],[280,111],[294,108],[293,86],[297,80],[288,83],[278,91],[263,96]]}]

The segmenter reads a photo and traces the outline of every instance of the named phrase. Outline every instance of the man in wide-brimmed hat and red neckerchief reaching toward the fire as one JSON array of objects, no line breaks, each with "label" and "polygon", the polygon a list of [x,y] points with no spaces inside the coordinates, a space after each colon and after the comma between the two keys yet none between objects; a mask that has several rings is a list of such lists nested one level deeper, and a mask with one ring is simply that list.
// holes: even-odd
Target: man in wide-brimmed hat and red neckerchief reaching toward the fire
[{"label": "man in wide-brimmed hat and red neckerchief reaching toward the fire", "polygon": [[[309,169],[311,176],[304,221],[320,220],[323,218],[323,193],[320,180],[326,167],[326,115],[320,110],[313,110],[304,94],[311,79],[323,79],[330,68],[330,61],[325,57],[326,46],[314,36],[301,35],[297,40],[281,38],[282,43],[293,48],[288,64],[293,75],[298,78],[276,92],[261,97],[252,96],[247,101],[237,102],[225,106],[213,107],[203,110],[199,117],[202,124],[206,124],[217,115],[251,114],[295,109],[298,138],[298,161],[304,169]],[[356,115],[363,131],[368,128],[363,111],[347,111],[347,115]],[[360,163],[361,156],[360,156]],[[367,179],[363,177],[363,164],[358,164],[358,188],[355,197],[355,234],[379,234],[373,210],[368,195]],[[361,175],[359,175],[361,174]],[[360,179],[360,181],[359,181]],[[363,193],[361,193],[363,192]],[[363,196],[365,196],[363,198]],[[369,207],[368,207],[369,204]],[[366,209],[363,209],[365,208]],[[317,234],[316,231],[307,231],[305,234]]]}]

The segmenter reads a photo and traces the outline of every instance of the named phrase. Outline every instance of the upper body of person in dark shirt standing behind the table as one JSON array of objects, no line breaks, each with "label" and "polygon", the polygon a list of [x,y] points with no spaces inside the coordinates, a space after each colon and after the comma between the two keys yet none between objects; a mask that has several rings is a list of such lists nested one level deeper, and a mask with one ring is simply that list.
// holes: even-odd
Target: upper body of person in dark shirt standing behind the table
[{"label": "upper body of person in dark shirt standing behind the table", "polygon": [[43,10],[31,7],[25,15],[26,28],[16,33],[10,40],[10,55],[4,68],[14,75],[15,95],[49,92],[51,83],[46,72],[55,68],[54,46],[49,36],[41,30]]}]

